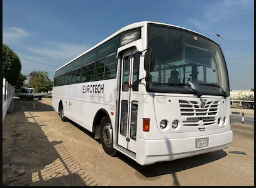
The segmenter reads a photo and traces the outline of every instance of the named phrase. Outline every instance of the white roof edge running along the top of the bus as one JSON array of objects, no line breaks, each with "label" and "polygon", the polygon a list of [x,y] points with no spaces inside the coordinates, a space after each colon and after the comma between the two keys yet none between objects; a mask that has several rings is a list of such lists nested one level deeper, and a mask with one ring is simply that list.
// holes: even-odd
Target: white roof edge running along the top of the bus
[{"label": "white roof edge running along the top of the bus", "polygon": [[[80,58],[81,56],[85,55],[86,53],[88,53],[89,51],[92,51],[94,50],[94,48],[97,48],[97,46],[100,46],[101,44],[105,43],[106,41],[108,41],[109,39],[113,38],[114,36],[120,34],[120,33],[123,33],[124,31],[128,31],[130,29],[133,29],[133,28],[139,28],[139,27],[142,27],[142,26],[146,26],[148,23],[152,23],[152,24],[160,24],[160,25],[164,25],[164,26],[172,26],[172,27],[175,27],[175,28],[180,28],[180,29],[184,29],[184,30],[187,30],[187,31],[191,31],[193,33],[197,33],[201,36],[204,36],[205,38],[208,38],[210,39],[211,41],[213,41],[214,43],[220,45],[219,43],[217,43],[216,41],[214,41],[213,39],[209,38],[208,36],[205,36],[204,34],[201,34],[201,33],[198,33],[196,31],[193,31],[191,29],[187,29],[187,28],[182,28],[180,26],[175,26],[175,25],[172,25],[172,24],[166,24],[166,23],[159,23],[159,22],[155,22],[155,21],[140,21],[140,22],[137,22],[137,23],[132,23],[132,24],[129,24],[121,29],[119,29],[118,31],[116,31],[116,33],[113,33],[111,34],[111,36],[109,36],[108,38],[104,39],[103,41],[101,41],[100,43],[97,43],[96,45],[92,46],[92,48],[90,48],[89,50],[85,51],[84,53],[82,53],[81,55],[75,57],[74,59],[70,60],[68,63],[65,63],[65,65],[62,65],[60,66],[60,68],[68,65],[69,63],[71,63],[72,61],[76,60],[77,58]],[[56,71],[60,70],[60,68],[58,68]]]}]

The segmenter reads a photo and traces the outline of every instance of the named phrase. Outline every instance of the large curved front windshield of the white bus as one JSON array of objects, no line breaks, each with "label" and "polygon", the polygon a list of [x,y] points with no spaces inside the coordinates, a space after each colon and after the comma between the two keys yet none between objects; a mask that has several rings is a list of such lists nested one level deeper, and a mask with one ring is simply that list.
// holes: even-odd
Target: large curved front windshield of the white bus
[{"label": "large curved front windshield of the white bus", "polygon": [[149,24],[148,47],[152,47],[155,66],[147,91],[194,93],[194,88],[203,95],[229,96],[223,53],[211,39],[181,28]]}]

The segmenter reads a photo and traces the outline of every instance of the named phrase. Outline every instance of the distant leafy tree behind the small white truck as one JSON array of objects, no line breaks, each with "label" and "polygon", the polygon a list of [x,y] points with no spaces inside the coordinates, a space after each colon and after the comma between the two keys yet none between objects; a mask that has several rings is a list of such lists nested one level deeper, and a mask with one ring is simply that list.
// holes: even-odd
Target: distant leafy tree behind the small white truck
[{"label": "distant leafy tree behind the small white truck", "polygon": [[28,75],[28,85],[35,88],[35,92],[47,92],[52,90],[53,81],[48,78],[46,71],[34,70]]}]

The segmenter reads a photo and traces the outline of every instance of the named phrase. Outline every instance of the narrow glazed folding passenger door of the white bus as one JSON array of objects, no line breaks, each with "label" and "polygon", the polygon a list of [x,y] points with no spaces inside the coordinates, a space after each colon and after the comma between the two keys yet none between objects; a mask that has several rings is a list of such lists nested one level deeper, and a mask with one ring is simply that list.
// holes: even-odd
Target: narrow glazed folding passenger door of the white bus
[{"label": "narrow glazed folding passenger door of the white bus", "polygon": [[138,112],[139,58],[135,51],[126,51],[121,61],[120,114],[118,145],[136,153],[136,127]]}]

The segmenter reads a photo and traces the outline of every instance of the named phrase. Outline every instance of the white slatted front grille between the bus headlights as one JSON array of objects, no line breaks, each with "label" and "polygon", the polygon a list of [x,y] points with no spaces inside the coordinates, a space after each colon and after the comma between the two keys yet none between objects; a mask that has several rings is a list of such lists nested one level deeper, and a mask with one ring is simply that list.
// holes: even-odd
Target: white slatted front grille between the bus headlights
[{"label": "white slatted front grille between the bus headlights", "polygon": [[184,126],[198,126],[199,123],[202,123],[201,121],[203,121],[203,125],[216,123],[220,101],[208,101],[203,108],[200,105],[201,102],[179,100]]}]

